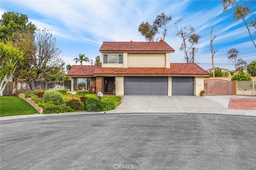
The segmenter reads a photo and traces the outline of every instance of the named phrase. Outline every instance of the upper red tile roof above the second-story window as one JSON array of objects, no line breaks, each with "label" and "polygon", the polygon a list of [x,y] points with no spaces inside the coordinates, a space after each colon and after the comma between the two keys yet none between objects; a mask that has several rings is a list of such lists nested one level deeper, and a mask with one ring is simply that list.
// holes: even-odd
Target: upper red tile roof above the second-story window
[{"label": "upper red tile roof above the second-story window", "polygon": [[104,51],[168,51],[175,50],[166,42],[103,42],[100,52]]}]

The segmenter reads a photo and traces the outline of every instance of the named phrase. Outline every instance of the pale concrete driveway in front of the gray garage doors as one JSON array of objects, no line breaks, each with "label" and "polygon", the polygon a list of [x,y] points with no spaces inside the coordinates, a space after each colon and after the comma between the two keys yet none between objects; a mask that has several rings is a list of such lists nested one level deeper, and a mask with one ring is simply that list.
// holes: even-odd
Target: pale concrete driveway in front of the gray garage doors
[{"label": "pale concrete driveway in front of the gray garage doors", "polygon": [[[124,96],[109,113],[220,113],[254,115],[255,110],[228,109],[232,95],[218,96]],[[245,98],[245,97],[244,97]],[[256,97],[251,97],[256,99]]]}]

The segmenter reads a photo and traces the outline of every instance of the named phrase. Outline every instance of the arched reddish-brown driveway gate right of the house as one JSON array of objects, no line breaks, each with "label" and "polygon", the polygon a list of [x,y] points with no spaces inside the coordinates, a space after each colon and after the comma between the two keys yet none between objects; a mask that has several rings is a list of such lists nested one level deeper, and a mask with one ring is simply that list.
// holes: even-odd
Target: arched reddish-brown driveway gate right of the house
[{"label": "arched reddish-brown driveway gate right of the house", "polygon": [[220,79],[204,80],[205,95],[233,95],[233,81]]}]

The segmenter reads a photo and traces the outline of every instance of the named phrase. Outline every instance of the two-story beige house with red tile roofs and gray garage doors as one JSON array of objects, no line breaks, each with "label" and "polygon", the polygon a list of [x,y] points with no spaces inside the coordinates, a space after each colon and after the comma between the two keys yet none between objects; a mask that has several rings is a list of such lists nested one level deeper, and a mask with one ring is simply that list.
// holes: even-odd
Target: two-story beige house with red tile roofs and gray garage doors
[{"label": "two-story beige house with red tile roofs and gray garage doors", "polygon": [[200,95],[204,76],[195,63],[170,63],[174,49],[166,42],[103,42],[102,65],[74,65],[67,77],[75,86],[89,86],[116,95]]}]

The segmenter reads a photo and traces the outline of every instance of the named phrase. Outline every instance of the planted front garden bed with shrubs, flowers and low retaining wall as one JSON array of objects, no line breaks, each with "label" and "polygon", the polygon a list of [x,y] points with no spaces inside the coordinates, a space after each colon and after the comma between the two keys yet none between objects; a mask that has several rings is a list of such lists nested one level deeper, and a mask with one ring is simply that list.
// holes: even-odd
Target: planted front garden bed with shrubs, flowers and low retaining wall
[{"label": "planted front garden bed with shrubs, flowers and low retaining wall", "polygon": [[70,94],[66,90],[43,91],[37,88],[33,91],[26,87],[16,89],[15,95],[28,101],[39,113],[66,113],[74,111],[108,111],[115,109],[121,103],[121,97],[102,97],[92,92],[77,92]]}]

